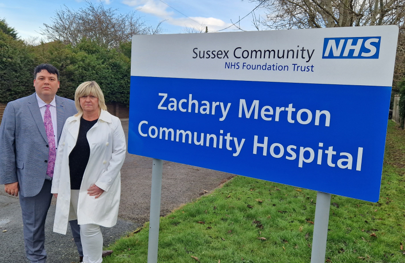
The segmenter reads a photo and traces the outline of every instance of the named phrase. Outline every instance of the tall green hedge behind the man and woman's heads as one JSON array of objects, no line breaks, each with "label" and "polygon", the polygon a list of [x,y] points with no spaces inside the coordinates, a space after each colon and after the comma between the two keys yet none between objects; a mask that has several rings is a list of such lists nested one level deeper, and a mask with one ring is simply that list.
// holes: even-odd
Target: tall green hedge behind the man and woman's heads
[{"label": "tall green hedge behind the man and woman's heads", "polygon": [[0,32],[0,61],[0,103],[32,94],[35,66],[49,63],[60,72],[58,95],[73,99],[82,82],[94,80],[106,102],[129,105],[130,59],[86,39],[75,47],[57,41],[30,47]]}]

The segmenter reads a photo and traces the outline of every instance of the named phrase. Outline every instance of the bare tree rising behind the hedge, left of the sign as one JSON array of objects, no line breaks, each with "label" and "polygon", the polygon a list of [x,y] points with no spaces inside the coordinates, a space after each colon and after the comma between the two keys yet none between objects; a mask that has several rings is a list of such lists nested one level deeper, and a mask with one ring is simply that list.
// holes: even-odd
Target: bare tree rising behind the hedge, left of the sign
[{"label": "bare tree rising behind the hedge, left of the sign", "polygon": [[122,42],[130,41],[133,35],[159,34],[162,22],[156,27],[147,25],[136,12],[118,13],[117,9],[94,5],[89,0],[85,8],[73,10],[64,6],[55,12],[51,24],[43,24],[41,34],[49,40],[76,45],[87,38],[109,48],[118,48]]}]

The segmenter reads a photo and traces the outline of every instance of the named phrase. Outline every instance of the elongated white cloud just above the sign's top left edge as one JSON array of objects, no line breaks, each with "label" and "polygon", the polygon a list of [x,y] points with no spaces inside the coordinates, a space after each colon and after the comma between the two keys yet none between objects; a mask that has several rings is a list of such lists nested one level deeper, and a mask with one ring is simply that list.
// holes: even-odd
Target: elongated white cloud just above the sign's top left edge
[{"label": "elongated white cloud just above the sign's top left edge", "polygon": [[[162,3],[159,0],[123,0],[123,4],[133,6],[139,11],[147,14],[154,15],[160,19],[166,19],[167,23],[183,27],[201,27],[208,26],[209,31],[215,31],[230,26],[230,23],[225,23],[221,19],[216,18],[203,18],[203,17],[190,17],[186,18],[178,14],[172,8]],[[171,10],[171,11],[168,11]],[[181,18],[175,18],[174,15],[178,14]],[[194,20],[194,21],[193,21]]]}]

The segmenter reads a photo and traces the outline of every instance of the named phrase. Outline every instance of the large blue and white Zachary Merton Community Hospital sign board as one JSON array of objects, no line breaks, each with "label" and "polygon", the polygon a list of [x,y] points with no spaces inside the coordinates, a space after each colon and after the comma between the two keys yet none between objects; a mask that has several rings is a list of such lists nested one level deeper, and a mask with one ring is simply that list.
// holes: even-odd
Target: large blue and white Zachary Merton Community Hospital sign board
[{"label": "large blue and white Zachary Merton Community Hospital sign board", "polygon": [[135,36],[128,151],[377,202],[395,30]]}]

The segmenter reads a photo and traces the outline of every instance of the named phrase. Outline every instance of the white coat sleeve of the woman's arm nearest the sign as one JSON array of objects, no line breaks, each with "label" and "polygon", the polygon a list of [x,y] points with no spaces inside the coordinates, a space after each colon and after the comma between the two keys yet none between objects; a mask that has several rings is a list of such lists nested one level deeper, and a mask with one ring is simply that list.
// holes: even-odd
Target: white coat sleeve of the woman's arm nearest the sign
[{"label": "white coat sleeve of the woman's arm nearest the sign", "polygon": [[96,182],[96,186],[106,192],[108,192],[110,187],[113,185],[114,180],[120,173],[126,152],[125,134],[122,130],[120,119],[117,118],[113,125],[113,152],[111,155],[111,160],[108,163],[107,169],[101,174],[100,178]]}]

